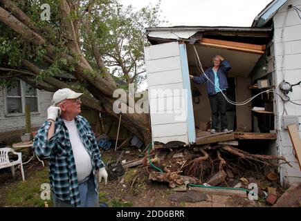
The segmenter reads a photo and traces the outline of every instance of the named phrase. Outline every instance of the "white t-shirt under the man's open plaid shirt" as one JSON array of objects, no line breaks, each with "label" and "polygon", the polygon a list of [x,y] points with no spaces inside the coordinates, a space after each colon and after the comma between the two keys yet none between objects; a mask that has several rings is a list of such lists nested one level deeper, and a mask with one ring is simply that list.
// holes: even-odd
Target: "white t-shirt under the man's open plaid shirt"
[{"label": "white t-shirt under the man's open plaid shirt", "polygon": [[91,157],[86,151],[86,148],[84,148],[82,140],[80,140],[80,134],[77,131],[75,119],[73,119],[71,122],[64,119],[64,123],[68,129],[70,136],[70,142],[73,150],[77,172],[77,181],[81,181],[89,176],[92,171]]}]

